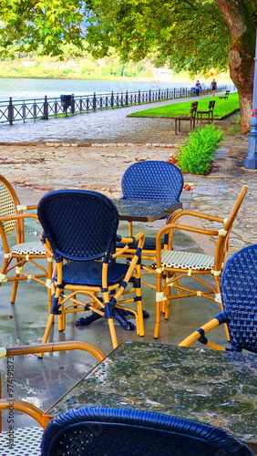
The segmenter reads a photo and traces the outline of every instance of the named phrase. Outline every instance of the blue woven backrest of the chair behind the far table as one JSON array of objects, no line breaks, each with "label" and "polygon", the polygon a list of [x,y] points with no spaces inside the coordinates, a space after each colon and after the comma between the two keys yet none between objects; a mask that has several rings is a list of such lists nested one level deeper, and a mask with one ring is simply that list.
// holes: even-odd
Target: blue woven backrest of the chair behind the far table
[{"label": "blue woven backrest of the chair behind the far table", "polygon": [[121,187],[129,200],[175,201],[180,199],[183,177],[167,161],[139,161],[124,172]]}]

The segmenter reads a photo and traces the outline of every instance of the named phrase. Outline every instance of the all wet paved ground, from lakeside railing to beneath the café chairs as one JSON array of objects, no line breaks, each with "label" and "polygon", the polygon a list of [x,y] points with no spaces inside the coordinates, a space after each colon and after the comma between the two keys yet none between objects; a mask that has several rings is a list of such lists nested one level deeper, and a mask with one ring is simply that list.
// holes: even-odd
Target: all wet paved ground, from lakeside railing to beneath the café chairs
[{"label": "all wet paved ground, from lakeside railing to beneath the caf\u00e9 chairs", "polygon": [[[148,107],[143,105],[138,108]],[[136,107],[115,109],[67,119],[27,122],[13,127],[0,126],[1,174],[14,185],[22,204],[36,204],[46,192],[64,188],[95,190],[118,198],[122,175],[129,165],[145,160],[170,161],[177,145],[187,138],[189,131],[189,125],[184,122],[180,135],[175,136],[173,119],[128,119],[128,112],[135,110]],[[188,185],[180,198],[185,209],[226,217],[242,186],[249,186],[232,228],[229,255],[245,245],[257,244],[257,174],[242,168],[243,158],[247,156],[248,137],[230,132],[231,121],[235,119],[236,116],[233,116],[227,121],[216,122],[224,130],[225,140],[217,151],[212,171],[208,176],[184,174]],[[187,223],[190,219],[185,221]],[[208,222],[202,226],[210,226],[205,223]],[[127,224],[123,225],[121,229],[127,233]],[[161,226],[163,221],[147,223],[143,229],[150,235],[150,231],[155,230],[156,233]],[[37,225],[36,228],[34,225],[33,228],[30,225],[26,228],[30,239],[34,240]],[[141,229],[141,226],[137,228]],[[197,235],[193,239],[189,236],[183,238],[182,245],[207,254],[213,254],[215,246],[209,237]],[[155,278],[151,280],[154,284]],[[1,344],[12,347],[41,342],[46,327],[46,287],[22,282],[15,306],[10,306],[11,291],[12,283],[1,286]],[[152,342],[154,290],[143,286],[142,295],[143,306],[150,314],[144,322],[143,341]],[[162,319],[161,322],[160,344],[179,344],[196,327],[220,311],[218,303],[198,297],[178,299],[173,303],[170,320]],[[68,316],[64,333],[59,333],[57,324],[54,325],[50,340],[87,340],[105,354],[112,350],[108,324],[98,320],[93,325],[77,328],[76,319],[75,314]],[[135,331],[124,331],[118,324],[116,330],[119,342],[124,339],[142,341]],[[211,340],[221,345],[226,343],[221,326],[216,328]],[[51,354],[40,361],[36,356],[16,357],[15,397],[46,410],[95,364],[94,359],[79,351]],[[1,373],[3,397],[6,397],[5,360]],[[6,420],[7,414],[4,413],[4,430],[8,430]],[[35,426],[35,421],[23,414],[15,414],[15,427],[25,425]]]}]

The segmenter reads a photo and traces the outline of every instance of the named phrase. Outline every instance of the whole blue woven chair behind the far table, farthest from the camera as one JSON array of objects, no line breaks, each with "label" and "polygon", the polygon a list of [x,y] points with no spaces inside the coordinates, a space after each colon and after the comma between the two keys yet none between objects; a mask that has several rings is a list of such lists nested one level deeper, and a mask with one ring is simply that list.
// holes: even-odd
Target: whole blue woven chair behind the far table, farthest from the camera
[{"label": "whole blue woven chair behind the far table, farthest from the camera", "polygon": [[[121,181],[122,200],[165,201],[180,203],[183,188],[183,176],[179,168],[168,161],[139,161],[129,166]],[[181,209],[179,209],[179,212]],[[167,214],[168,216],[169,214]],[[128,222],[129,236],[133,236],[132,222]],[[167,237],[166,237],[167,239]],[[165,237],[161,239],[161,248],[165,245]],[[122,248],[118,243],[117,248]],[[127,256],[134,254],[136,244],[131,244]],[[154,261],[156,256],[156,238],[146,236],[142,258]],[[144,267],[149,273],[154,271]],[[142,275],[147,275],[143,273]]]}]

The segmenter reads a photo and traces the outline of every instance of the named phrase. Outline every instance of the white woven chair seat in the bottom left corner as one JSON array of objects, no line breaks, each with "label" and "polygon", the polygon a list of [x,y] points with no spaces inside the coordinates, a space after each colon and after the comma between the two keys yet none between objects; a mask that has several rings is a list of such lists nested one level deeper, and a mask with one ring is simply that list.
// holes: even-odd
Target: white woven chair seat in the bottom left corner
[{"label": "white woven chair seat in the bottom left corner", "polygon": [[15,430],[13,448],[10,448],[9,434],[2,432],[0,434],[1,456],[40,456],[43,432],[42,428],[36,428],[36,426]]}]

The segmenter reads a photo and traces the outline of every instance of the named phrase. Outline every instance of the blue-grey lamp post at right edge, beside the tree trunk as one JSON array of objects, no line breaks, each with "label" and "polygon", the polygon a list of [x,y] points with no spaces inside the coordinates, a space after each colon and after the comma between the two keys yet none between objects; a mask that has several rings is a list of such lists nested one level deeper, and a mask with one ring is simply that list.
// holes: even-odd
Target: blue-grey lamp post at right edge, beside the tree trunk
[{"label": "blue-grey lamp post at right edge, beside the tree trunk", "polygon": [[[255,25],[257,25],[257,17],[254,17]],[[248,133],[249,145],[248,156],[244,161],[244,168],[248,170],[257,170],[257,27],[256,27],[256,43],[254,57],[254,79],[253,79],[253,96],[252,96],[252,117],[251,131]]]}]

